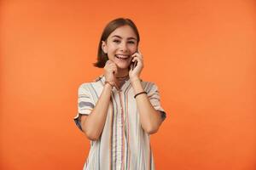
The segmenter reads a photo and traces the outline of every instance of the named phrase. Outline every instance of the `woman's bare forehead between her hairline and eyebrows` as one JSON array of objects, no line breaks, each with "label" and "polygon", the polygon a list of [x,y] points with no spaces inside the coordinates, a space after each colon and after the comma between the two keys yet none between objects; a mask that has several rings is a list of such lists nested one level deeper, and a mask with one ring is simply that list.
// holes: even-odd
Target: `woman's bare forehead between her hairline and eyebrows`
[{"label": "woman's bare forehead between her hairline and eyebrows", "polygon": [[111,34],[109,35],[109,38],[113,38],[114,36],[119,36],[122,38],[129,38],[134,37],[137,39],[135,31],[131,28],[131,26],[120,26],[117,29],[115,29]]}]

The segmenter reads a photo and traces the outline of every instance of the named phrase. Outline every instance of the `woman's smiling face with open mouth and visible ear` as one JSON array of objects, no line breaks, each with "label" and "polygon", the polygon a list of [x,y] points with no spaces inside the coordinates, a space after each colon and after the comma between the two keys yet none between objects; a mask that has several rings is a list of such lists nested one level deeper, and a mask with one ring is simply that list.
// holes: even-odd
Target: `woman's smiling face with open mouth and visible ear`
[{"label": "woman's smiling face with open mouth and visible ear", "polygon": [[131,26],[120,26],[111,32],[106,42],[102,42],[102,50],[119,69],[126,70],[131,55],[137,51],[137,36]]}]

